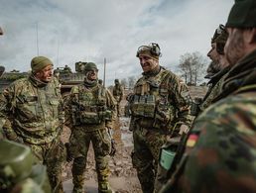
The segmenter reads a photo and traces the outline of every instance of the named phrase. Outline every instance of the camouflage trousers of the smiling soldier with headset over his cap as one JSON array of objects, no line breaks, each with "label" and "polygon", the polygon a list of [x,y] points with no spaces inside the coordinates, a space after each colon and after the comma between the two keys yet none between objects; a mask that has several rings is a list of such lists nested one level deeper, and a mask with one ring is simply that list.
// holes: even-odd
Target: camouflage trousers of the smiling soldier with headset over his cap
[{"label": "camouflage trousers of the smiling soldier with headset over his cap", "polygon": [[160,147],[166,143],[166,136],[156,130],[136,128],[133,131],[134,150],[132,163],[143,193],[153,193],[157,175]]}]

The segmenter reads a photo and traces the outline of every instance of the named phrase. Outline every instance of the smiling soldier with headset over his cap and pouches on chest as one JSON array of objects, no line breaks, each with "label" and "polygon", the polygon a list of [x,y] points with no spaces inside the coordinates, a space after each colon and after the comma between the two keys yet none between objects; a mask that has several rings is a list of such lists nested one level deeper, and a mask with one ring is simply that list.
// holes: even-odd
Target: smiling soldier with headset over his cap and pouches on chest
[{"label": "smiling soldier with headset over his cap and pouches on chest", "polygon": [[133,166],[144,193],[154,191],[160,147],[167,136],[178,137],[191,124],[180,78],[159,64],[158,44],[138,48],[137,55],[143,69],[134,92],[131,106],[130,130],[133,131]]}]

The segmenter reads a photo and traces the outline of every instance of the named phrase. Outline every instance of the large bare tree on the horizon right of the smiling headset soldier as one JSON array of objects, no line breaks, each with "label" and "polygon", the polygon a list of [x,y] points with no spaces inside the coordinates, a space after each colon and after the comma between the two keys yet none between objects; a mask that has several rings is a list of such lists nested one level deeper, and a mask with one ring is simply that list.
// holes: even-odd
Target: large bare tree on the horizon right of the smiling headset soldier
[{"label": "large bare tree on the horizon right of the smiling headset soldier", "polygon": [[205,74],[206,58],[198,51],[181,55],[179,68],[186,83],[198,84]]}]

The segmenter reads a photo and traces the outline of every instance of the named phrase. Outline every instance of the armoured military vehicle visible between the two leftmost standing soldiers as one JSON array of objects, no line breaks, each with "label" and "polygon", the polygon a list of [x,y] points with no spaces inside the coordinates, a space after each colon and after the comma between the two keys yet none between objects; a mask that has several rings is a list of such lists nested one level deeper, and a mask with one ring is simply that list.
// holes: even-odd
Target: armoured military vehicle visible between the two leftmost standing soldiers
[{"label": "armoured military vehicle visible between the two leftmost standing soldiers", "polygon": [[59,80],[61,83],[61,93],[63,96],[68,95],[71,88],[74,85],[80,84],[84,80],[84,66],[86,62],[77,61],[75,62],[75,72],[72,72],[70,68],[65,65],[65,67],[58,67],[56,70],[59,71]]}]

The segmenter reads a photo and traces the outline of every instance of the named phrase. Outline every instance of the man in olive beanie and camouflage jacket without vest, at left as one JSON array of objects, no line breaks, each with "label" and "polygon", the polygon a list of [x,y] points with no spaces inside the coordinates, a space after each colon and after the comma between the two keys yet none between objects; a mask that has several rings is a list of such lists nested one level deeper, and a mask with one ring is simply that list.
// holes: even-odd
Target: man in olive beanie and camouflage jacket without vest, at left
[{"label": "man in olive beanie and camouflage jacket without vest, at left", "polygon": [[63,192],[64,145],[60,135],[64,122],[62,97],[53,82],[53,62],[45,56],[31,61],[29,77],[13,82],[0,100],[4,134],[10,141],[31,147],[47,166],[54,192]]}]

